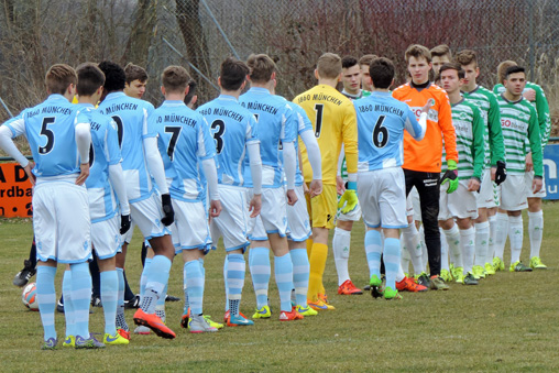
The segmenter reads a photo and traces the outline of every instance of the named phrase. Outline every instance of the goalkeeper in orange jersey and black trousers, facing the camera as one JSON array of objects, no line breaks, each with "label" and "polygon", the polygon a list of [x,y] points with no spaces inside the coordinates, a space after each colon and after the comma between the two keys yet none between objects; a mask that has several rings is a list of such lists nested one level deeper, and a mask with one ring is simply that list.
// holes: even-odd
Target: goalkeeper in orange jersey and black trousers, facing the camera
[{"label": "goalkeeper in orange jersey and black trousers, facing the camera", "polygon": [[[448,289],[448,285],[440,278],[440,232],[439,215],[439,182],[449,184],[447,193],[458,187],[456,150],[456,134],[452,127],[450,103],[447,94],[429,81],[431,69],[431,54],[423,45],[413,44],[405,53],[407,69],[412,81],[399,86],[393,92],[397,100],[406,102],[417,113],[418,108],[428,100],[435,101],[427,116],[427,131],[421,141],[404,134],[404,174],[406,176],[406,193],[416,187],[421,207],[425,243],[427,245],[430,281],[424,283],[432,289]],[[439,180],[442,154],[442,139],[447,152],[448,172]]]}]

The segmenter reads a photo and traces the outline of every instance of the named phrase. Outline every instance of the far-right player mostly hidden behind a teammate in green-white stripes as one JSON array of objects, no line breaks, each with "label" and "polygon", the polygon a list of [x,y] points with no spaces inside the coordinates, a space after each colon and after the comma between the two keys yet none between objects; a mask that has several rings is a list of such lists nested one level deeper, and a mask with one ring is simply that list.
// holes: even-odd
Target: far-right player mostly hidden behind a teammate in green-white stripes
[{"label": "far-right player mostly hidden behind a teammate in green-white stripes", "polygon": [[[495,94],[501,94],[504,91],[504,87],[502,85],[504,79],[504,73],[509,66],[515,66],[516,63],[513,61],[502,62],[497,67],[497,76],[501,84],[497,84],[493,91]],[[539,122],[539,133],[541,136],[541,151],[547,144],[549,140],[549,133],[551,131],[551,118],[549,116],[549,103],[547,102],[546,94],[540,86],[535,83],[526,81],[526,87],[523,91],[523,97],[531,102],[536,112],[538,114]],[[534,171],[531,155],[528,151],[528,158],[526,160],[527,168],[526,168],[526,187],[528,188],[528,235],[530,240],[530,267],[534,270],[545,270],[547,266],[541,263],[539,251],[541,249],[541,239],[544,237],[544,211],[541,210],[541,198],[546,197],[546,187],[545,184],[541,189],[534,194],[531,193],[531,183],[534,179]],[[502,227],[506,224],[506,216],[497,213],[497,218],[501,221]],[[504,230],[506,231],[506,229]],[[506,239],[505,239],[506,240]],[[495,266],[501,267],[501,263],[498,260],[495,260]]]}]

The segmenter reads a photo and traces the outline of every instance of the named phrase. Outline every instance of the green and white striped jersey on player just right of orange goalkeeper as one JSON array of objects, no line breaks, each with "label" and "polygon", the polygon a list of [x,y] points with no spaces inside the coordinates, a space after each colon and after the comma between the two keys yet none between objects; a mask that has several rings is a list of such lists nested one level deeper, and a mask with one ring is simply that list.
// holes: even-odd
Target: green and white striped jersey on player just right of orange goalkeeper
[{"label": "green and white striped jersey on player just right of orange goalkeeper", "polygon": [[[480,109],[469,100],[462,98],[451,105],[452,125],[457,136],[458,179],[468,180],[478,177],[481,180],[485,160],[485,142],[483,117]],[[447,171],[447,154],[442,147],[441,173]]]}]

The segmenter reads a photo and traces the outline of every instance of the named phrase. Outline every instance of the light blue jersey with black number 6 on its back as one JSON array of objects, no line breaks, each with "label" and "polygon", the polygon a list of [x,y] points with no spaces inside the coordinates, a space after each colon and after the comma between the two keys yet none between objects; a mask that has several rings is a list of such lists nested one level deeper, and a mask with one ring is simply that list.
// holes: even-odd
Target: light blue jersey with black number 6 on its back
[{"label": "light blue jersey with black number 6 on its back", "polygon": [[359,172],[404,164],[404,129],[414,138],[423,130],[414,112],[390,92],[373,91],[353,101],[358,113]]}]

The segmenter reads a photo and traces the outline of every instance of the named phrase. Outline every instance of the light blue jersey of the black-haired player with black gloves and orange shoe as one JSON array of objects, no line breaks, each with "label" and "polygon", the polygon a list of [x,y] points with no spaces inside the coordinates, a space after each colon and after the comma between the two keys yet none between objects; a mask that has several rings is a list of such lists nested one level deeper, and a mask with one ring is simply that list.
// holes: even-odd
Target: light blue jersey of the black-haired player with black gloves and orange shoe
[{"label": "light blue jersey of the black-haired player with black gloves and orange shoe", "polygon": [[98,110],[117,123],[129,201],[150,197],[154,187],[147,172],[143,140],[156,136],[156,133],[147,131],[147,117],[153,111],[153,105],[128,97],[124,92],[112,92],[99,105]]}]

